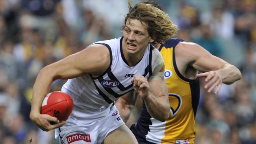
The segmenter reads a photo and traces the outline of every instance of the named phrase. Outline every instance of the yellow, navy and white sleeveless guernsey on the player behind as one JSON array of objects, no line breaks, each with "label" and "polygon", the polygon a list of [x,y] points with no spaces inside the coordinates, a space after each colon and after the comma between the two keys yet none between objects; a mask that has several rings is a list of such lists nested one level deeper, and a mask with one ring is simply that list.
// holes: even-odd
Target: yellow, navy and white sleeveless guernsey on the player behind
[{"label": "yellow, navy and white sleeveless guernsey on the player behind", "polygon": [[195,114],[200,95],[199,80],[187,79],[178,71],[174,49],[182,41],[171,38],[159,49],[165,63],[170,116],[165,122],[152,118],[143,102],[141,115],[130,128],[139,144],[194,144]]}]

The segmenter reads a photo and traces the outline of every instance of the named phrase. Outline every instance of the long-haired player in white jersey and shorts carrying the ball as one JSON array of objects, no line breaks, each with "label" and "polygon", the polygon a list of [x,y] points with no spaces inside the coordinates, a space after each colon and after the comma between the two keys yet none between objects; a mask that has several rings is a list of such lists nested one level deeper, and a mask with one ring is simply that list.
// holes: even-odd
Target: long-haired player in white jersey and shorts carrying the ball
[{"label": "long-haired player in white jersey and shorts carrying the ball", "polygon": [[[143,98],[152,117],[160,121],[169,117],[163,59],[150,43],[166,41],[177,27],[167,14],[150,4],[133,8],[130,4],[123,37],[95,42],[39,72],[30,118],[44,131],[55,129],[59,143],[137,144],[114,105],[120,96],[129,95],[132,100],[134,91]],[[66,122],[40,114],[43,98],[56,79],[68,79],[61,90],[74,102]]]}]

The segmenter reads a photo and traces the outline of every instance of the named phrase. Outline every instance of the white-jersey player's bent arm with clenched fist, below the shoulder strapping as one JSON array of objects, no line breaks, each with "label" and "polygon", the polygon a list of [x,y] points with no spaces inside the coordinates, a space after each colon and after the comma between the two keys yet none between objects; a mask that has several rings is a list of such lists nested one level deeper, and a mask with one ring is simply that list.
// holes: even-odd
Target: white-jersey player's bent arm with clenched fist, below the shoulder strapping
[{"label": "white-jersey player's bent arm with clenched fist, below the shoulder strapping", "polygon": [[143,76],[134,76],[134,90],[144,100],[148,113],[161,122],[169,117],[170,103],[168,99],[168,89],[163,78],[164,66],[160,72],[150,79]]}]

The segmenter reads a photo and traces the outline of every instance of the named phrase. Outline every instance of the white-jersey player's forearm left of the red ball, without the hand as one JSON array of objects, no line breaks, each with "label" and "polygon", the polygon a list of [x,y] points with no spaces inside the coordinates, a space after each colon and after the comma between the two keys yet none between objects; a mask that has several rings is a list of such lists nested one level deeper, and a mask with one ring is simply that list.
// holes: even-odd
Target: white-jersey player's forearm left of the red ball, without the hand
[{"label": "white-jersey player's forearm left of the red ball, without the hand", "polygon": [[34,115],[40,113],[41,105],[43,99],[50,89],[53,78],[50,71],[45,70],[44,68],[39,72],[35,84],[33,86],[33,94],[32,94],[32,105],[30,118],[33,118]]}]

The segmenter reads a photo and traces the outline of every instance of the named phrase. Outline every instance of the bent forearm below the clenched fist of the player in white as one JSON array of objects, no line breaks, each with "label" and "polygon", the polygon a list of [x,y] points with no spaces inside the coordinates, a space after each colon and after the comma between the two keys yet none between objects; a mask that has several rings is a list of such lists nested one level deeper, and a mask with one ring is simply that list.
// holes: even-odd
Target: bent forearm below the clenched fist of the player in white
[{"label": "bent forearm below the clenched fist of the player in white", "polygon": [[143,98],[145,105],[147,107],[148,113],[161,122],[164,122],[169,117],[170,104],[168,100],[164,97],[156,97],[151,92],[147,98]]}]

